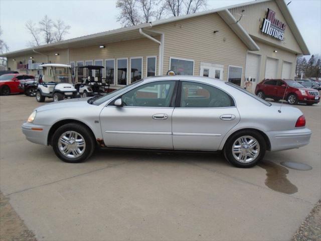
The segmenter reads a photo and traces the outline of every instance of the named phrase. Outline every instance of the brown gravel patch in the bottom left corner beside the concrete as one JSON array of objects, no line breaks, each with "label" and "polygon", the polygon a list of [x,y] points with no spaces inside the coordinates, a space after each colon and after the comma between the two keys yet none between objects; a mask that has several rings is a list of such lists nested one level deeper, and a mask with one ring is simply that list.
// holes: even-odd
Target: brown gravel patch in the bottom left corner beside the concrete
[{"label": "brown gravel patch in the bottom left corner beside the concrete", "polygon": [[0,241],[37,241],[24,221],[0,192]]}]

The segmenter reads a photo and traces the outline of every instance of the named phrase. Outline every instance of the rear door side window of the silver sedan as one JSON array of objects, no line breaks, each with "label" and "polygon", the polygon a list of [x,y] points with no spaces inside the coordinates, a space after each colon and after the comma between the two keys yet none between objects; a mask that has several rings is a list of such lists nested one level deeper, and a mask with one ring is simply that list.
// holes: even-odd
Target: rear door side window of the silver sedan
[{"label": "rear door side window of the silver sedan", "polygon": [[218,108],[235,106],[233,98],[223,90],[196,82],[181,82],[179,107]]}]

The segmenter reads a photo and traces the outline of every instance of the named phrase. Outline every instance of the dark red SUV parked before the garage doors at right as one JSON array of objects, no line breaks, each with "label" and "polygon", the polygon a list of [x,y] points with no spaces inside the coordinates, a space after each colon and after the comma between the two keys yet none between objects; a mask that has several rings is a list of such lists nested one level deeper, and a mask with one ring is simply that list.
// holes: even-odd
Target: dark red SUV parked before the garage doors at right
[{"label": "dark red SUV parked before the garage doors at right", "polygon": [[262,99],[272,98],[275,101],[284,97],[289,104],[303,102],[312,105],[320,101],[317,90],[305,88],[295,80],[286,79],[264,79],[256,85],[255,94]]}]

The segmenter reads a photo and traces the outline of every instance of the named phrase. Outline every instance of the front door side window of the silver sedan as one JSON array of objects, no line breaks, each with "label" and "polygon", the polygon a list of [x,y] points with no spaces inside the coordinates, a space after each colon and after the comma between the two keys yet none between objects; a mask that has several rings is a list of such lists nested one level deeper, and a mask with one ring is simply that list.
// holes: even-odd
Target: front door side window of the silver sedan
[{"label": "front door side window of the silver sedan", "polygon": [[121,96],[123,106],[170,107],[175,81],[157,81],[138,86]]}]

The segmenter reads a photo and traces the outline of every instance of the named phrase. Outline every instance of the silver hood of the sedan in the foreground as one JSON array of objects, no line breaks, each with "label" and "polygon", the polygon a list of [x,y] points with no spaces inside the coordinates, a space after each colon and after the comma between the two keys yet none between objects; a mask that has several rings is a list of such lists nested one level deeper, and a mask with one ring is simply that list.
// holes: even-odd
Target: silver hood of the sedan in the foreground
[{"label": "silver hood of the sedan in the foreground", "polygon": [[58,109],[58,108],[68,108],[68,107],[83,107],[88,106],[89,103],[87,102],[87,98],[74,98],[74,99],[66,99],[66,100],[60,100],[57,102],[51,102],[42,106],[39,106],[36,108],[37,112],[49,110],[49,109]]}]

